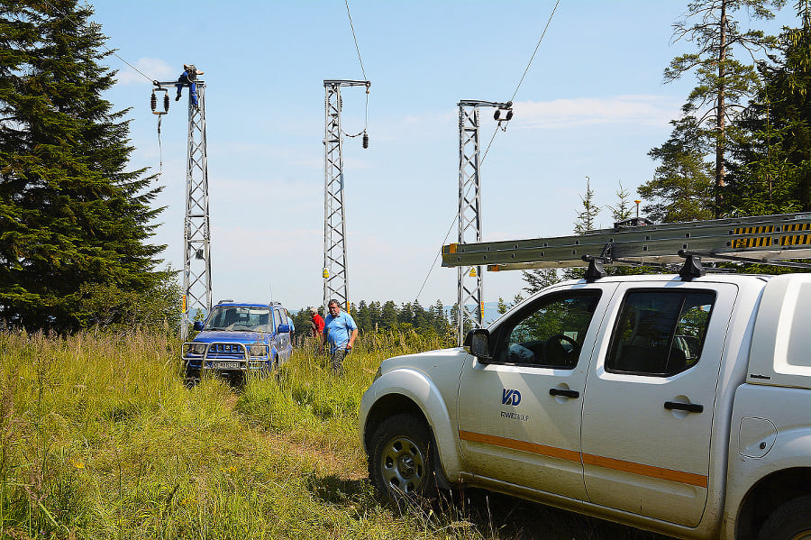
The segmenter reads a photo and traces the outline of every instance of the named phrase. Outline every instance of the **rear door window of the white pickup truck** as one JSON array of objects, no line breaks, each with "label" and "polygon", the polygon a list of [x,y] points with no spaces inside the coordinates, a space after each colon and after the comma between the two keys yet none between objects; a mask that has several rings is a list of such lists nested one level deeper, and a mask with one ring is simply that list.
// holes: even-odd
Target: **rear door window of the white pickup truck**
[{"label": "rear door window of the white pickup truck", "polygon": [[715,303],[710,291],[632,291],[624,299],[606,371],[670,377],[698,362]]}]

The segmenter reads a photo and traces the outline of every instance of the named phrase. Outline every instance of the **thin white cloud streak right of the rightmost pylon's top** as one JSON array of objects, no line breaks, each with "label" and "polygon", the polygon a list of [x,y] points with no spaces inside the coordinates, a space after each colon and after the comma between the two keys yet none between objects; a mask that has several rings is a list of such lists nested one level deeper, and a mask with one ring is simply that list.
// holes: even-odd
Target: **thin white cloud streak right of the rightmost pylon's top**
[{"label": "thin white cloud streak right of the rightmost pylon's top", "polygon": [[667,125],[679,116],[670,96],[614,96],[516,103],[516,128],[560,129],[589,124]]}]

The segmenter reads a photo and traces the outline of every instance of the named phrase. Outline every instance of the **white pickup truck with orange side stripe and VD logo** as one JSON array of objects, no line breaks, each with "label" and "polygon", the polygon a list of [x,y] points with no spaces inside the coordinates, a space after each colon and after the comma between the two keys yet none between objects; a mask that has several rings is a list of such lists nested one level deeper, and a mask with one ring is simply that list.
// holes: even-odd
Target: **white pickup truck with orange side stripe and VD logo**
[{"label": "white pickup truck with orange side stripe and VD logo", "polygon": [[360,407],[389,497],[478,486],[681,538],[811,538],[811,274],[546,288]]}]

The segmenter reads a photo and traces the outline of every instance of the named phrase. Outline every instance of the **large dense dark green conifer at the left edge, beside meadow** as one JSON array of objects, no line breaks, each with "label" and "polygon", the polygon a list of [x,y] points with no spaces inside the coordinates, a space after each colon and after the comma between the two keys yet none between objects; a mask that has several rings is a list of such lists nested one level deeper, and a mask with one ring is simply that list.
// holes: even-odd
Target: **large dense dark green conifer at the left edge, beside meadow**
[{"label": "large dense dark green conifer at the left edge, beside meadow", "polygon": [[165,246],[146,243],[159,188],[125,170],[129,124],[102,98],[115,73],[98,63],[110,53],[92,10],[0,6],[0,318],[75,330],[92,324],[94,298],[169,279],[155,270]]}]

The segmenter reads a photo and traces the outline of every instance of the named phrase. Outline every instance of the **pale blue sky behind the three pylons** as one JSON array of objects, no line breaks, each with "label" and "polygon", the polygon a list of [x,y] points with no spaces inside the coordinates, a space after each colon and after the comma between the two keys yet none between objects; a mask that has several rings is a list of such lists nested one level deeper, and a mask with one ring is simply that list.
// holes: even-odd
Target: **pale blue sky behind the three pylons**
[{"label": "pale blue sky behind the three pylons", "polygon": [[[108,47],[150,79],[184,63],[205,71],[214,301],[274,299],[288,308],[323,296],[324,79],[363,78],[343,0],[299,2],[99,0],[93,20]],[[414,301],[458,207],[460,99],[513,96],[555,2],[350,1],[371,81],[368,150],[346,139],[344,178],[351,301]],[[663,84],[688,43],[671,42],[686,1],[560,0],[515,96],[515,117],[481,166],[485,240],[569,234],[586,189],[614,205],[622,182],[652,178],[647,156],[694,86]],[[742,26],[749,24],[743,15]],[[793,23],[755,21],[771,32]],[[187,159],[185,99],[161,129],[151,84],[121,60],[108,93],[132,107],[132,167],[158,171],[167,206],[155,243],[183,267]],[[186,94],[184,94],[186,96]],[[342,90],[342,124],[363,128],[365,96]],[[484,148],[495,129],[482,109]],[[605,208],[597,224],[611,224]],[[448,242],[454,242],[454,233]],[[511,299],[519,272],[487,273],[485,300]],[[433,266],[423,306],[456,298],[456,270]]]}]

